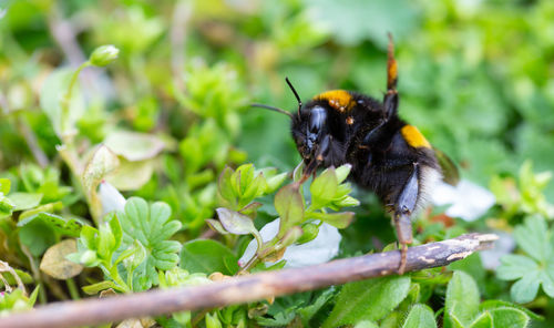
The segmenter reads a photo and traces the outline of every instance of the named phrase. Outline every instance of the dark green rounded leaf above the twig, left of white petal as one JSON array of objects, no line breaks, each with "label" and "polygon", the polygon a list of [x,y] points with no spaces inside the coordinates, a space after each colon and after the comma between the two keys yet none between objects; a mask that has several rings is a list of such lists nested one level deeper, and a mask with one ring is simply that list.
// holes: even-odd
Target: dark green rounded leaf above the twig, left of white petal
[{"label": "dark green rounded leaf above the twig, left of white petal", "polygon": [[[225,265],[225,259],[235,263],[233,270]],[[181,250],[181,268],[189,273],[222,273],[234,275],[238,270],[238,258],[223,244],[212,239],[197,239],[183,244]]]}]

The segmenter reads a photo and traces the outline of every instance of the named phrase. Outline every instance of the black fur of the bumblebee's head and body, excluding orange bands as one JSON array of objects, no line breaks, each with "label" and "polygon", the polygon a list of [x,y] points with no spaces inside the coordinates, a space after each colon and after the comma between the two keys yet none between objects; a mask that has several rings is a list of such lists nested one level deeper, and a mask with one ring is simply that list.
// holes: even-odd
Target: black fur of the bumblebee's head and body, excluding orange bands
[{"label": "black fur of the bumblebee's head and body, excluding orange bands", "polygon": [[[315,109],[322,109],[326,117],[317,133],[315,145],[319,145],[326,135],[330,136],[330,145],[322,154],[319,166],[351,164],[350,181],[375,192],[392,209],[401,209],[403,206],[399,204],[400,196],[414,174],[418,181],[416,199],[409,199],[413,206],[408,206],[408,209],[413,212],[421,207],[428,180],[440,176],[433,150],[411,146],[401,133],[407,123],[397,113],[387,117],[381,102],[363,94],[348,93],[355,103],[348,111],[341,112],[330,105],[328,100],[316,96],[293,117],[293,136],[306,164],[315,160],[314,154],[317,152],[306,152],[311,114]],[[353,123],[347,123],[349,117]]]}]

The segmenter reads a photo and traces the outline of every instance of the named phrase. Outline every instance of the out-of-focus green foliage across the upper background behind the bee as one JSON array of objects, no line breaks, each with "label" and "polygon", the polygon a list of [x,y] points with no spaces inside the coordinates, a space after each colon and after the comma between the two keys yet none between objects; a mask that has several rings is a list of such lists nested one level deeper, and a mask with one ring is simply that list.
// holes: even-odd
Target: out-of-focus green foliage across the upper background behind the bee
[{"label": "out-of-focus green foliage across the upper background behind the bee", "polygon": [[[294,110],[285,76],[305,100],[338,88],[381,99],[387,32],[401,116],[465,177],[488,185],[525,158],[536,171],[554,167],[554,1],[19,0],[0,8],[0,168],[30,156],[8,113],[24,116],[47,155],[55,154],[41,85],[53,68],[75,66],[101,44],[121,53],[81,80],[89,109],[79,127],[92,142],[110,126],[179,140],[192,111],[226,126],[220,137],[247,161],[290,168],[299,157],[287,117],[248,103]],[[203,90],[192,76],[204,79]],[[206,93],[218,83],[232,103]]]}]

